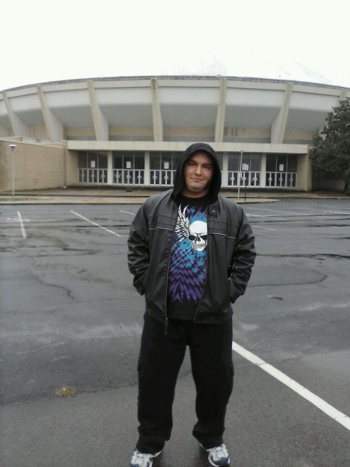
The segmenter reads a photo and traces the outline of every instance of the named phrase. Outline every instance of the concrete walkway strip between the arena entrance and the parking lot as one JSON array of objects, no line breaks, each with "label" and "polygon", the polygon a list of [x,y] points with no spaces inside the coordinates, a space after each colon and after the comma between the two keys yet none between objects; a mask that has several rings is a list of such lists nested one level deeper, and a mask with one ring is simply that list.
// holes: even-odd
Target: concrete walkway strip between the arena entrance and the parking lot
[{"label": "concrete walkway strip between the arena entrance and the parking lot", "polygon": [[[146,198],[164,191],[159,188],[98,188],[68,187],[45,190],[22,190],[12,193],[0,193],[0,204],[140,204]],[[349,199],[337,192],[296,192],[296,191],[253,191],[246,192],[242,188],[240,197],[237,190],[221,190],[221,194],[237,203],[266,203],[278,201],[280,198],[332,198]]]}]

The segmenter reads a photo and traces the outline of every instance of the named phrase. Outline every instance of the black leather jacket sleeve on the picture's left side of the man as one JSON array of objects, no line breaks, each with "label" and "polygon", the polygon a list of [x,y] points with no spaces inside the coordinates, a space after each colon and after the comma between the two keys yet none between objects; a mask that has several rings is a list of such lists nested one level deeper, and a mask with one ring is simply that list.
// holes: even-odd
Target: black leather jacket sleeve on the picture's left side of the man
[{"label": "black leather jacket sleeve on the picture's left side of the man", "polygon": [[129,271],[134,275],[134,287],[141,295],[145,292],[148,258],[148,224],[145,205],[142,204],[131,224],[128,238]]}]

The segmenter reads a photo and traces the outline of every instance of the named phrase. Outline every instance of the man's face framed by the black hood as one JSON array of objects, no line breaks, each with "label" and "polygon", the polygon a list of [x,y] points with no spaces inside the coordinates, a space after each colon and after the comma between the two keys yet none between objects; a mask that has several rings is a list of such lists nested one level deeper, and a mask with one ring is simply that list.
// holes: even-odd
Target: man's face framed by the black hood
[{"label": "man's face framed by the black hood", "polygon": [[182,194],[190,198],[206,195],[212,173],[213,167],[209,155],[202,151],[193,153],[184,164],[185,187]]}]

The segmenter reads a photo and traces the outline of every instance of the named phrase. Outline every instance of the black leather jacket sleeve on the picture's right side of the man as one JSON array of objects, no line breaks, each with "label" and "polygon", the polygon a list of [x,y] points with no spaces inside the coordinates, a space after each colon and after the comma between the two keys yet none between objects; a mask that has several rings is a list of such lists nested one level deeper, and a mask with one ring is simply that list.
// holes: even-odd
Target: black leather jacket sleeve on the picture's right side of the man
[{"label": "black leather jacket sleeve on the picture's right side of the man", "polygon": [[241,224],[237,231],[235,251],[232,258],[231,274],[228,278],[231,302],[234,303],[245,293],[251,269],[256,256],[254,235],[242,210]]}]

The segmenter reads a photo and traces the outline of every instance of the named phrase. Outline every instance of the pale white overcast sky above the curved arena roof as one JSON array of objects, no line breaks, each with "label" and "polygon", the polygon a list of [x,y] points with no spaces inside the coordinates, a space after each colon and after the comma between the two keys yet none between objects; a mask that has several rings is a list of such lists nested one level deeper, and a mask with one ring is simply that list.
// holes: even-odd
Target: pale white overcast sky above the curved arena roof
[{"label": "pale white overcast sky above the curved arena roof", "polygon": [[350,88],[349,14],[345,0],[7,0],[0,10],[0,90],[166,74]]}]

